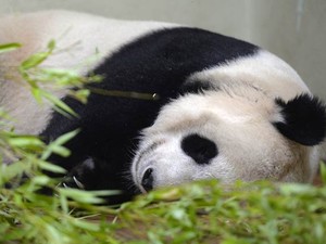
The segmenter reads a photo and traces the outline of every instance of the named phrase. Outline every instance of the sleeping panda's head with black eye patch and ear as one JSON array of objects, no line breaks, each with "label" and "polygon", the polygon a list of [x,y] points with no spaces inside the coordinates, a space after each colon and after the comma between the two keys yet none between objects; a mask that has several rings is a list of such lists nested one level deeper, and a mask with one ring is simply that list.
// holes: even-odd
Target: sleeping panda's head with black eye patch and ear
[{"label": "sleeping panda's head with black eye patch and ear", "polygon": [[250,86],[186,94],[143,130],[133,180],[141,192],[212,178],[308,182],[325,127],[310,94],[285,102]]}]

